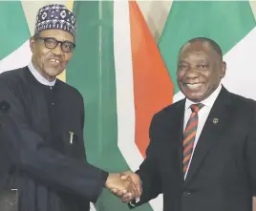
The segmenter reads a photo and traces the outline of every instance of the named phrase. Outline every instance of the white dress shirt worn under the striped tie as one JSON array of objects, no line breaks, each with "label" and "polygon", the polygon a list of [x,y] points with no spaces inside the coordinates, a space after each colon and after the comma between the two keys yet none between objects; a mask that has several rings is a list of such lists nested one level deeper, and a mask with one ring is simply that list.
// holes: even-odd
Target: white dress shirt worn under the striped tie
[{"label": "white dress shirt worn under the striped tie", "polygon": [[[204,99],[203,101],[201,101],[200,103],[203,103],[203,108],[199,111],[198,113],[198,116],[199,116],[199,123],[198,123],[198,129],[197,129],[197,134],[196,134],[196,137],[195,137],[195,142],[194,142],[194,147],[193,147],[193,151],[192,151],[192,155],[191,155],[191,158],[190,158],[190,161],[188,163],[188,167],[187,167],[187,170],[186,170],[186,173],[184,175],[184,179],[186,178],[186,175],[187,175],[187,172],[189,170],[189,166],[190,166],[190,163],[191,163],[191,160],[193,158],[193,154],[194,154],[194,150],[197,146],[197,143],[198,143],[198,140],[199,140],[199,137],[202,133],[202,130],[203,130],[203,126],[204,126],[204,123],[207,119],[207,117],[209,116],[209,113],[211,111],[211,108],[217,98],[217,96],[220,94],[222,90],[222,84],[220,83],[220,85],[218,86],[218,88],[212,93],[212,95],[209,95],[206,99]],[[198,102],[193,102],[189,99],[186,98],[185,100],[185,110],[184,110],[184,125],[183,125],[183,131],[185,130],[185,127],[186,127],[186,124],[187,124],[187,121],[192,113],[191,111],[191,108],[190,108],[190,105],[192,104],[197,104]]]}]

